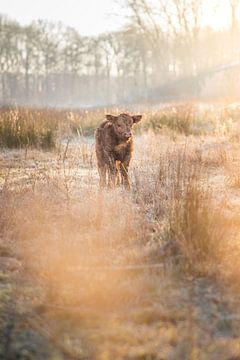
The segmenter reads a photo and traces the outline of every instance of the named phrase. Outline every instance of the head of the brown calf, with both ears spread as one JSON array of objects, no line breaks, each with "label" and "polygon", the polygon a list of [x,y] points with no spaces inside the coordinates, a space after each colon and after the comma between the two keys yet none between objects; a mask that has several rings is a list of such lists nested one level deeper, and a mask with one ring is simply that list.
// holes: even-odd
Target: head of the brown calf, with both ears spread
[{"label": "head of the brown calf, with both ears spread", "polygon": [[129,115],[129,114],[120,114],[118,116],[106,115],[108,121],[113,125],[114,132],[116,136],[122,140],[127,141],[132,136],[132,126],[133,124],[138,123],[142,115]]}]

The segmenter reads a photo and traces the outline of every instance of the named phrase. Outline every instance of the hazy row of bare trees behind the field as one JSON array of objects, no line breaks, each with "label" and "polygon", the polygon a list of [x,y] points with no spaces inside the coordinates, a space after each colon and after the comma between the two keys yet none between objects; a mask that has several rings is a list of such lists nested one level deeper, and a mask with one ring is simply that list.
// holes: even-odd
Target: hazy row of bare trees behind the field
[{"label": "hazy row of bare trees behind the field", "polygon": [[122,4],[128,25],[92,37],[61,23],[22,26],[0,15],[0,104],[72,107],[148,99],[159,86],[239,59],[239,0],[228,0],[231,21],[223,30],[203,25],[205,0]]}]

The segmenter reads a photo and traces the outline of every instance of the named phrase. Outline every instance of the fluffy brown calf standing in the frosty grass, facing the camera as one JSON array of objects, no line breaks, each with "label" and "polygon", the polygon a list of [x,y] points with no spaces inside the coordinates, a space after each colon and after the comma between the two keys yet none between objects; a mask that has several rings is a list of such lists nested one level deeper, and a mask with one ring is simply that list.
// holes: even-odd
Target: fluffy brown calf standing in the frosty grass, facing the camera
[{"label": "fluffy brown calf standing in the frosty grass, facing the camera", "polygon": [[142,115],[106,115],[95,132],[97,165],[100,186],[123,184],[129,187],[128,167],[133,152],[132,126]]}]

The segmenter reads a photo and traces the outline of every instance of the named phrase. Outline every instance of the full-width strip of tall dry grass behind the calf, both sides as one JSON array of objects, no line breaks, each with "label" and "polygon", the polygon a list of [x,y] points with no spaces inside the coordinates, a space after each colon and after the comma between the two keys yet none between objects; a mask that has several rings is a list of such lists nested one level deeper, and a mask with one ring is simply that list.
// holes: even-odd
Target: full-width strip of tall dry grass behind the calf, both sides
[{"label": "full-width strip of tall dry grass behind the calf, both sides", "polygon": [[[129,108],[129,112],[136,109]],[[106,113],[127,111],[119,108],[61,110],[34,108],[0,109],[0,146],[6,148],[53,149],[62,138],[92,136]],[[144,109],[144,121],[136,131],[171,132],[184,135],[228,136],[239,140],[239,107],[198,103],[165,104],[156,110]]]}]

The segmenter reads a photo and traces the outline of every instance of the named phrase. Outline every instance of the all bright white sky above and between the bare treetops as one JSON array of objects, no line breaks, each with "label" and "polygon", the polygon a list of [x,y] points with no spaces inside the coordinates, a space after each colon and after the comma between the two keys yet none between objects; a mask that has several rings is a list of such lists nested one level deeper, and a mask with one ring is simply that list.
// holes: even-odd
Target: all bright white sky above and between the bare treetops
[{"label": "all bright white sky above and between the bare treetops", "polygon": [[[157,0],[152,0],[155,1],[157,4]],[[21,24],[36,19],[61,21],[77,28],[82,35],[118,30],[126,23],[126,11],[116,5],[116,0],[0,0],[0,13]],[[229,0],[205,0],[202,20],[204,25],[218,29],[227,26]]]}]

